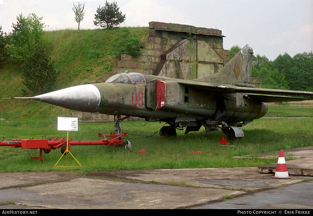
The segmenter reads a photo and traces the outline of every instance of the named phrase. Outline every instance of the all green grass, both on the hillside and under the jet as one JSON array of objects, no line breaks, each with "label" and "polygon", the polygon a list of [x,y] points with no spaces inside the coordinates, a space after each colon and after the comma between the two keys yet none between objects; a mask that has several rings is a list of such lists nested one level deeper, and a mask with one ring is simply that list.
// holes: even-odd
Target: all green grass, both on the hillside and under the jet
[{"label": "all green grass, both on the hillside and under the jet", "polygon": [[[55,89],[101,80],[102,74],[110,73],[116,65],[116,59],[110,56],[110,40],[121,29],[107,30],[62,30],[45,32],[44,40],[49,54],[56,61],[56,69],[61,71]],[[131,28],[141,41],[148,40],[148,28]],[[8,60],[0,65],[0,98],[32,96],[24,94],[25,87],[21,79],[21,63]],[[71,116],[65,108],[30,101],[0,99],[0,137],[12,139],[62,138],[66,132],[57,131],[58,116]],[[303,102],[300,102],[302,104]],[[290,103],[291,104],[291,103]],[[295,103],[297,104],[297,103]],[[307,103],[304,103],[305,105]],[[279,116],[313,117],[311,106],[289,106],[269,104],[269,114]],[[273,114],[279,113],[279,114]],[[45,163],[30,162],[30,156],[38,156],[39,150],[0,147],[0,172],[12,171],[59,171],[76,170],[87,172],[114,169],[161,169],[161,168],[206,168],[206,167],[242,167],[257,166],[277,162],[275,159],[234,159],[233,156],[256,154],[280,149],[290,149],[311,145],[312,119],[257,119],[246,125],[241,141],[230,146],[216,144],[222,138],[222,132],[205,133],[177,131],[177,138],[163,137],[157,132],[163,124],[144,121],[123,122],[122,129],[129,134],[133,151],[123,151],[114,146],[73,146],[70,152],[82,167],[54,168],[61,154],[52,150],[44,154]],[[133,126],[135,124],[136,126]],[[200,129],[200,132],[203,128]],[[73,140],[99,140],[98,133],[113,132],[113,123],[82,123],[79,131],[70,132]],[[148,137],[153,135],[152,137]],[[198,134],[198,135],[197,135]],[[146,154],[136,152],[146,149]],[[200,154],[190,151],[201,150]],[[77,165],[68,157],[68,163]],[[286,158],[288,160],[288,158]],[[64,164],[60,161],[58,165]]]}]

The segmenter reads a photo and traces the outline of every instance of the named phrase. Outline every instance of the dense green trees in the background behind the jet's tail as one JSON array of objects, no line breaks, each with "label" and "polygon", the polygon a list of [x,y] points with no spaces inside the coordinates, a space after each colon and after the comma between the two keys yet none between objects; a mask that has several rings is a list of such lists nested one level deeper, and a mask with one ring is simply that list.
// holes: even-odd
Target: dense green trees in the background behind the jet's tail
[{"label": "dense green trees in the background behind the jet's tail", "polygon": [[[239,50],[235,45],[229,53],[234,56]],[[280,54],[274,61],[257,54],[253,56],[252,66],[252,76],[262,78],[262,88],[313,91],[313,52],[293,57]]]}]

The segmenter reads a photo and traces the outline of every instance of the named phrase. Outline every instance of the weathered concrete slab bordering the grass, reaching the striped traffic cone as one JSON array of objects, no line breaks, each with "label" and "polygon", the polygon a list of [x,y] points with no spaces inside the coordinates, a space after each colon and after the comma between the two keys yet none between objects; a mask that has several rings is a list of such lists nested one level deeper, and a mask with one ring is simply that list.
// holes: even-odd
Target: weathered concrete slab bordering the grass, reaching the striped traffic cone
[{"label": "weathered concrete slab bordering the grass, reaching the striped traffic cone", "polygon": [[305,176],[298,176],[283,181],[275,181],[271,178],[273,174],[260,174],[257,167],[115,170],[90,172],[86,176],[245,192],[276,188],[282,184],[295,184],[306,178]]}]

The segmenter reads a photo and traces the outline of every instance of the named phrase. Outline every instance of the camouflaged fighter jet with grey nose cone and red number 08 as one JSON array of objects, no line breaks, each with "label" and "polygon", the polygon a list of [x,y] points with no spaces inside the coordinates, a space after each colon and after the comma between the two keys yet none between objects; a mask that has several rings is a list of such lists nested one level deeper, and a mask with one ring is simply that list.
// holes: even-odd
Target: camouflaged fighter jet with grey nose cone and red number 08
[{"label": "camouflaged fighter jet with grey nose cone and red number 08", "polygon": [[[249,45],[221,71],[195,80],[181,80],[140,73],[121,73],[104,83],[61,89],[33,99],[60,107],[115,116],[137,116],[162,121],[161,135],[176,135],[176,128],[206,132],[222,131],[229,139],[244,136],[240,127],[267,112],[266,102],[301,101],[300,92],[256,88],[251,83],[253,50]],[[296,96],[296,97],[295,97]]]}]

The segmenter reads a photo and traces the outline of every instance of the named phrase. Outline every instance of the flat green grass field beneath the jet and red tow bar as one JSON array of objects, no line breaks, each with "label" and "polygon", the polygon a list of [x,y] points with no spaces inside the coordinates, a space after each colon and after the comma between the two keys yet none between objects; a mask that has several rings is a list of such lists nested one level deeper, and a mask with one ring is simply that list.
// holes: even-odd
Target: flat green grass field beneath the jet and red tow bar
[{"label": "flat green grass field beneath the jet and red tow bar", "polygon": [[[0,122],[0,136],[5,140],[11,139],[40,139],[42,136],[54,138],[66,137],[66,132],[57,131],[55,121],[12,120]],[[133,124],[141,126],[144,121]],[[72,146],[70,152],[80,162],[82,167],[54,168],[61,157],[60,150],[51,150],[44,154],[45,163],[30,161],[30,156],[38,156],[39,150],[0,147],[0,171],[98,171],[115,169],[177,169],[177,168],[207,168],[207,167],[243,167],[258,166],[277,162],[277,158],[234,159],[234,156],[256,154],[280,149],[290,149],[308,146],[313,143],[312,119],[257,119],[243,129],[245,137],[230,146],[216,144],[222,138],[222,132],[211,135],[205,133],[192,136],[178,131],[177,137],[163,137],[160,140],[158,133],[149,138],[137,139],[141,136],[150,136],[158,131],[163,124],[149,123],[145,127],[137,128],[129,122],[122,123],[123,132],[129,134],[133,151],[124,151],[115,146]],[[79,122],[79,131],[70,132],[73,140],[99,140],[97,134],[110,133],[113,123],[83,123]],[[202,129],[201,129],[202,130]],[[201,131],[200,130],[200,131]],[[141,135],[141,136],[137,136]],[[146,154],[137,151],[145,149]],[[200,154],[191,154],[190,151],[201,150]],[[65,164],[65,160],[58,166]],[[285,158],[288,160],[288,158]],[[67,165],[78,165],[68,155]]]}]

